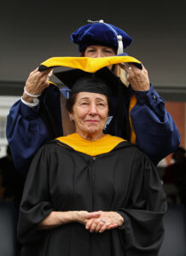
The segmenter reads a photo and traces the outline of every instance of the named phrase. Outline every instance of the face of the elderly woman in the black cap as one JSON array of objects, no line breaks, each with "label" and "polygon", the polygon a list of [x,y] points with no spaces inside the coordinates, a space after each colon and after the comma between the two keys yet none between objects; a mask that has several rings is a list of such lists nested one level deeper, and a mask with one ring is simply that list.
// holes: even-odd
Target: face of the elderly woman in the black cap
[{"label": "face of the elderly woman in the black cap", "polygon": [[79,92],[70,113],[80,134],[102,134],[108,119],[108,98],[99,93]]}]

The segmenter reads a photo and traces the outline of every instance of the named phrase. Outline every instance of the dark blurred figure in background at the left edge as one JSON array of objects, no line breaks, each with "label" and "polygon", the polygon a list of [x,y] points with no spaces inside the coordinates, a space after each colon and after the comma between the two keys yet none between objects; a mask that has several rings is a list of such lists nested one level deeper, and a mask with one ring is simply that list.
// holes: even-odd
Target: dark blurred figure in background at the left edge
[{"label": "dark blurred figure in background at the left edge", "polygon": [[15,170],[9,146],[7,155],[0,159],[0,201],[13,201],[15,208],[20,207],[24,177]]}]

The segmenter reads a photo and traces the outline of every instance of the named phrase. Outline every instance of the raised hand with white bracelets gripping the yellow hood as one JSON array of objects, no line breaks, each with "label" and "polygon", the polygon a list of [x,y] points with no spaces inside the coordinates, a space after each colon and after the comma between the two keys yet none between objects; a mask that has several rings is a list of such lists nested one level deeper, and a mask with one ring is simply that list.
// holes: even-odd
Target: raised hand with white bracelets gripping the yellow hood
[{"label": "raised hand with white bracelets gripping the yellow hood", "polygon": [[[49,78],[52,75],[52,68],[45,71],[38,71],[38,67],[29,74],[26,80],[26,91],[32,95],[39,95],[45,88],[49,86]],[[26,102],[32,102],[33,98],[28,96],[26,92],[23,93],[23,99]]]}]

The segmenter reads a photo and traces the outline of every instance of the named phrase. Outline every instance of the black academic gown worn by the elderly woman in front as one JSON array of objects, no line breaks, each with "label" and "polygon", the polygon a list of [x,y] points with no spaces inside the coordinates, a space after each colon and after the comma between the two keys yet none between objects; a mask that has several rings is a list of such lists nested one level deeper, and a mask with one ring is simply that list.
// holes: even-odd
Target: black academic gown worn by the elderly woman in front
[{"label": "black academic gown worn by the elderly woman in front", "polygon": [[[125,229],[90,233],[83,224],[37,230],[52,211],[116,211]],[[40,148],[26,178],[18,236],[22,256],[155,256],[166,200],[154,165],[122,142],[96,159],[55,141]]]}]

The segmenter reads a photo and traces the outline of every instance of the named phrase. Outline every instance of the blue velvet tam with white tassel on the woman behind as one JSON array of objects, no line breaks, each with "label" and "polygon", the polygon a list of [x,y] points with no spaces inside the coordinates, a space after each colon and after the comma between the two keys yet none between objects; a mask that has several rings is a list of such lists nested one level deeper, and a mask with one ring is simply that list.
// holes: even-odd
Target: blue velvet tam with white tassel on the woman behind
[{"label": "blue velvet tam with white tassel on the woman behind", "polygon": [[71,35],[71,41],[78,44],[80,52],[90,45],[103,45],[117,49],[117,54],[121,54],[123,48],[131,44],[132,38],[119,27],[105,23],[103,20],[88,21],[90,24],[79,27]]}]

